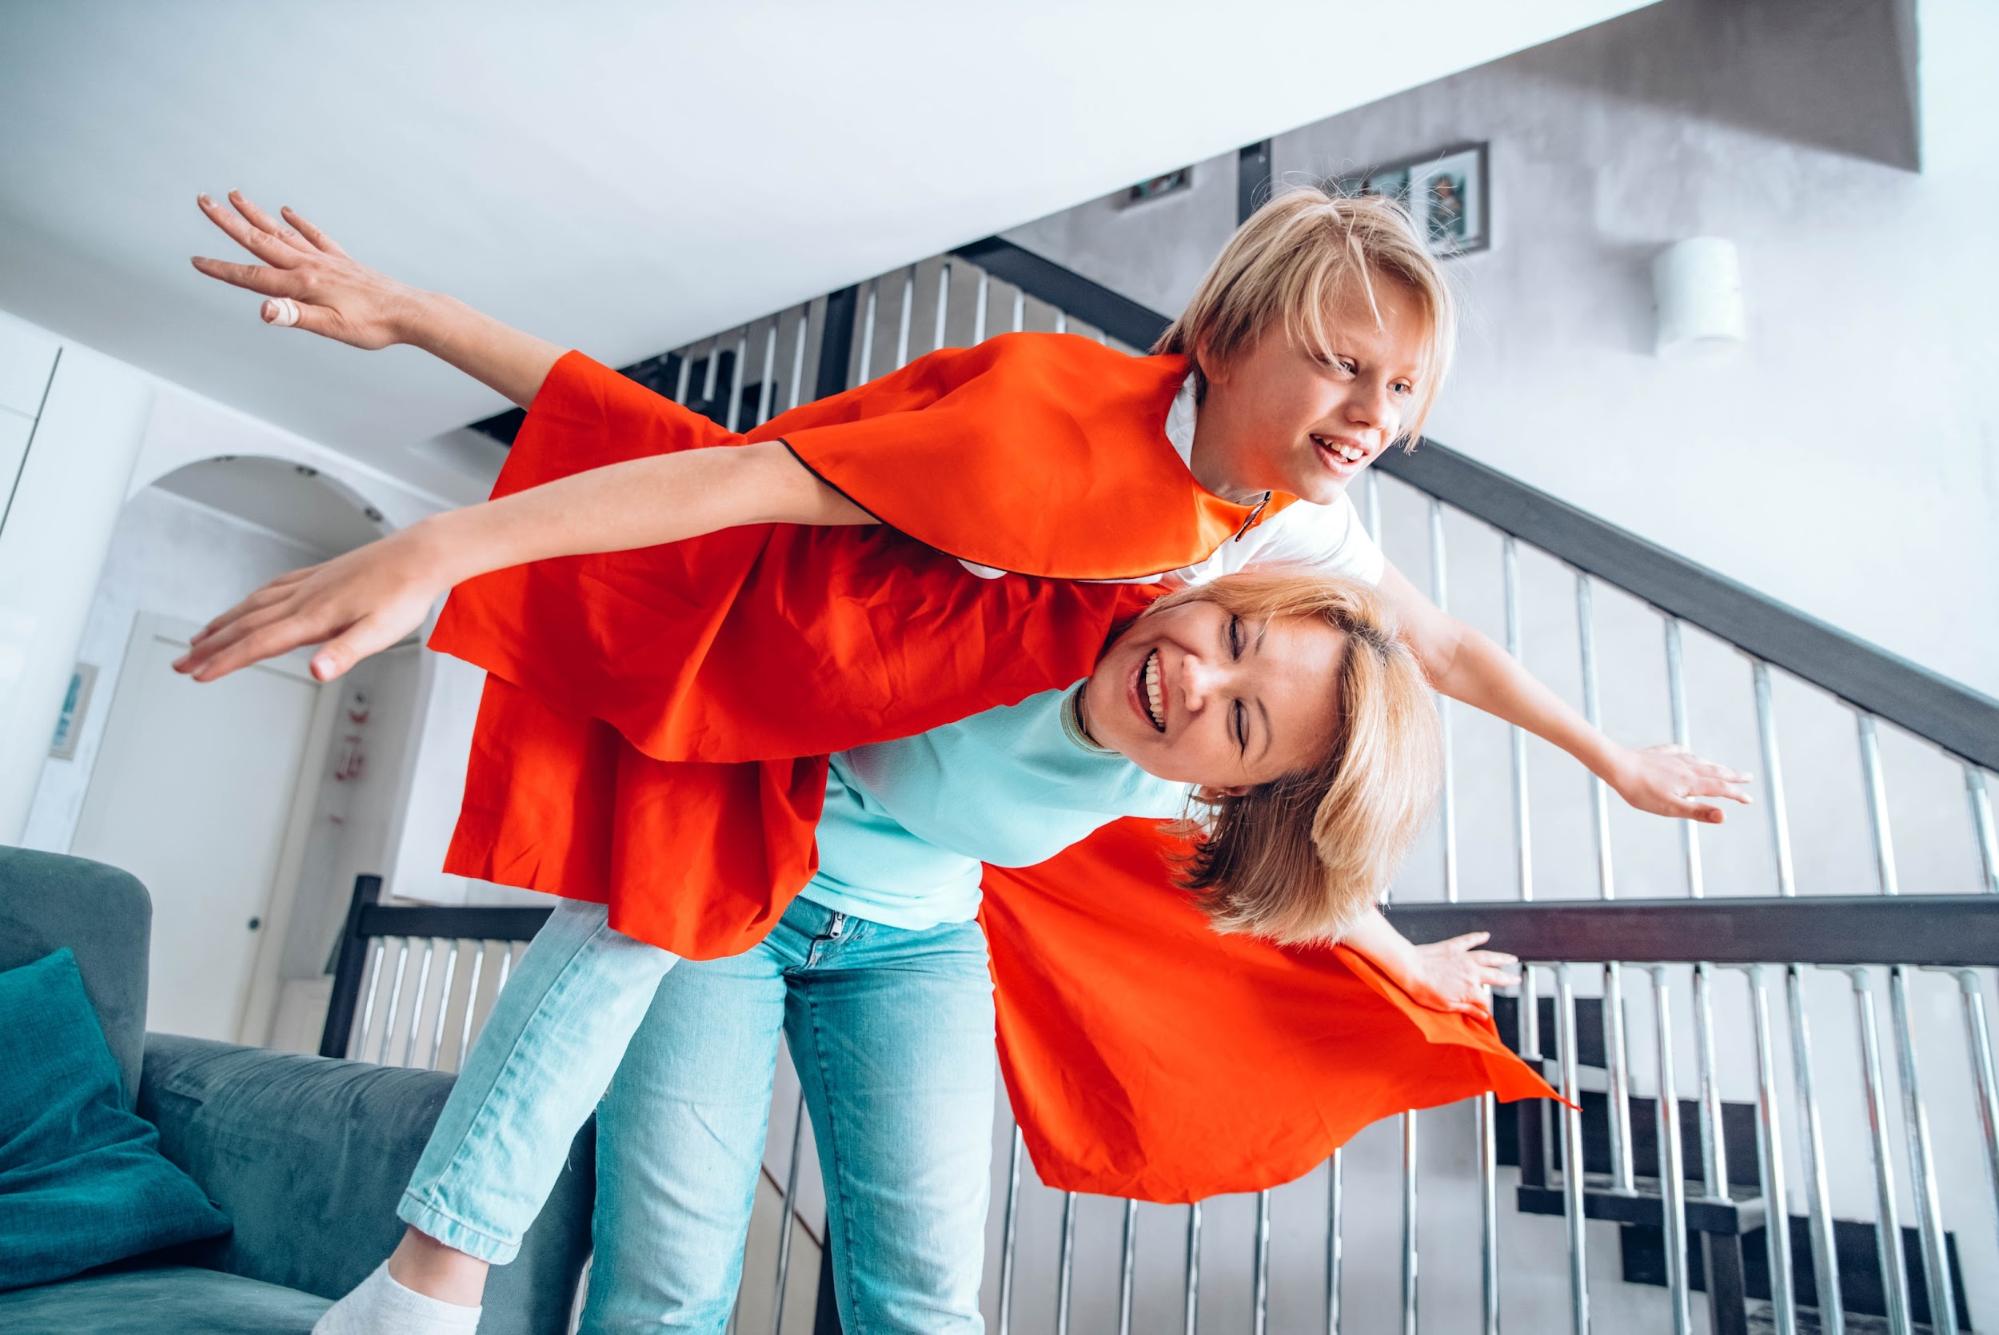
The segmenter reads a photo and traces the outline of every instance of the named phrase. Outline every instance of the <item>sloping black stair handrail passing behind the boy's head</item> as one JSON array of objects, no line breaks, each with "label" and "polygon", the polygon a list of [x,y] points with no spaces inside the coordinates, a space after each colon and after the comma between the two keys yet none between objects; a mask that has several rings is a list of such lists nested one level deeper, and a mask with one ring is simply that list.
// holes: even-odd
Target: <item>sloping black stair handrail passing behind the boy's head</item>
[{"label": "sloping black stair handrail passing behind the boy's head", "polygon": [[[952,254],[1127,348],[1151,348],[1169,324],[1159,312],[1000,236]],[[1999,769],[1999,699],[1991,695],[1605,524],[1427,436],[1411,454],[1383,454],[1377,468],[1953,755]]]}]

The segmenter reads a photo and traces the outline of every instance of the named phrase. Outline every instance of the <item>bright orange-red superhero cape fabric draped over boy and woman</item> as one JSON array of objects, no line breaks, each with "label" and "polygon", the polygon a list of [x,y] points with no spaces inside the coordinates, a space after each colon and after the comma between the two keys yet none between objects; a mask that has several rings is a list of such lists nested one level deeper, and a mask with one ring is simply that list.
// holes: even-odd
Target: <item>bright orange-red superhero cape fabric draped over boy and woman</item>
[{"label": "bright orange-red superhero cape fabric draped over boy and woman", "polygon": [[[752,526],[460,586],[430,644],[488,681],[446,869],[608,903],[680,955],[752,947],[816,869],[830,751],[1087,675],[1155,590],[1073,580],[1191,566],[1255,520],[1165,442],[1183,376],[1015,334],[736,436],[564,356],[496,496],[784,440],[884,524]],[[1215,935],[1163,841],[1119,821],[988,869],[1000,1057],[1049,1185],[1259,1189],[1387,1113],[1551,1093],[1489,1023],[1421,1007],[1353,951]]]}]

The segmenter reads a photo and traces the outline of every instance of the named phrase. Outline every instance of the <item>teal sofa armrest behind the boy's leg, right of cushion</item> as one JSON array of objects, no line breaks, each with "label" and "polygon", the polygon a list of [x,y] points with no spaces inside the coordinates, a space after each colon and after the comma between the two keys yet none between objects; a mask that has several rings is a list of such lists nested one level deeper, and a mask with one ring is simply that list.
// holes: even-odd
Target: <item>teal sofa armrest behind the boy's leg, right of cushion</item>
[{"label": "teal sofa armrest behind the boy's leg, right of cushion", "polygon": [[[236,1223],[182,1259],[338,1297],[402,1237],[396,1203],[452,1077],[166,1033],[146,1035],[138,1113]],[[492,1273],[480,1331],[562,1331],[590,1255],[584,1127],[520,1257]]]}]

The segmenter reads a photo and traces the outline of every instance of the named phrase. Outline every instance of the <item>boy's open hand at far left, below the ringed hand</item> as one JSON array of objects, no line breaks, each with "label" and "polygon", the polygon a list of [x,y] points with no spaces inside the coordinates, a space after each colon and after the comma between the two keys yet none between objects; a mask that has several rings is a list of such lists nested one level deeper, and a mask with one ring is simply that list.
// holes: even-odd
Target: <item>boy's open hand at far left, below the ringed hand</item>
[{"label": "boy's open hand at far left, below the ringed hand", "polygon": [[174,671],[196,681],[322,644],[312,675],[332,681],[424,624],[452,588],[422,524],[320,566],[278,576],[196,632]]}]

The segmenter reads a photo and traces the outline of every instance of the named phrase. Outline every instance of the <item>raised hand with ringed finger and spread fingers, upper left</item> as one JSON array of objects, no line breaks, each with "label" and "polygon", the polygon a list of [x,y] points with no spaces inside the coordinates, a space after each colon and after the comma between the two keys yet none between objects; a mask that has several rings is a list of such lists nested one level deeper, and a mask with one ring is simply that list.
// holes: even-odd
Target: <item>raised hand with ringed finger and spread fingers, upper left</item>
[{"label": "raised hand with ringed finger and spread fingers, upper left", "polygon": [[[358,264],[290,208],[280,210],[280,222],[240,190],[230,192],[236,212],[206,194],[198,204],[230,240],[264,262],[230,264],[196,256],[200,272],[268,298],[290,298],[298,308],[298,328],[342,344],[372,350],[406,342],[406,326],[424,296],[416,288]],[[262,314],[266,324],[280,324],[284,306],[280,300],[264,302]]]}]

